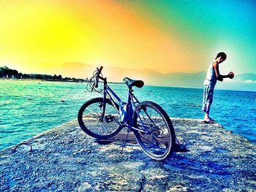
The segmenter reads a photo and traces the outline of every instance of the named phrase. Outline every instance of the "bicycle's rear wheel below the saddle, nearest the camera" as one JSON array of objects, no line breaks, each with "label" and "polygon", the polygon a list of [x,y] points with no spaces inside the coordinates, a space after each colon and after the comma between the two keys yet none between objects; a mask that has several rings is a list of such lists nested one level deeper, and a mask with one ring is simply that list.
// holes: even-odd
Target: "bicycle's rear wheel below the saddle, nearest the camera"
[{"label": "bicycle's rear wheel below the saddle, nearest the camera", "polygon": [[165,160],[175,145],[175,132],[169,116],[158,104],[143,101],[134,112],[134,131],[140,148],[146,155],[158,161]]}]

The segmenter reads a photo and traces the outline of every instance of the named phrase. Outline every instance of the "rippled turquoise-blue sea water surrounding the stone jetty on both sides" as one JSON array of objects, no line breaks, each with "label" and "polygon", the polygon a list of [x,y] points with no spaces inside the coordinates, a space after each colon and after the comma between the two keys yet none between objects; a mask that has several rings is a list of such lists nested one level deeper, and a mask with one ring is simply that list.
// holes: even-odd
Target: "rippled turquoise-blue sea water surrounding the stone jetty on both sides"
[{"label": "rippled turquoise-blue sea water surrounding the stone jetty on both sides", "polygon": [[[126,85],[109,85],[126,101]],[[160,104],[171,118],[203,118],[203,89],[146,85],[134,93]],[[0,80],[0,150],[77,118],[80,106],[96,96],[86,83]],[[256,143],[256,92],[216,90],[211,117]]]}]

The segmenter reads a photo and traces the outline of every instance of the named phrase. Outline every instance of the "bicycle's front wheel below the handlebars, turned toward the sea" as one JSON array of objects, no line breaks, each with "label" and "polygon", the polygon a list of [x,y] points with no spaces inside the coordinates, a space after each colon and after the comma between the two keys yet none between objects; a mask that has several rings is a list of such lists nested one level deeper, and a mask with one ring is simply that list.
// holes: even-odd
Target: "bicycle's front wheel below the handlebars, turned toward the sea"
[{"label": "bicycle's front wheel below the handlebars, turned toward the sea", "polygon": [[121,131],[118,104],[109,99],[105,101],[105,110],[102,98],[86,101],[78,112],[78,123],[86,134],[97,139],[113,137]]}]

